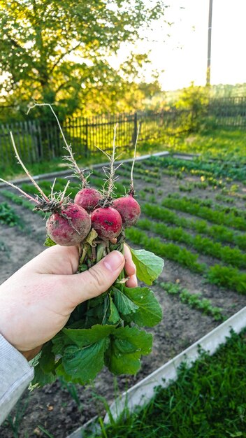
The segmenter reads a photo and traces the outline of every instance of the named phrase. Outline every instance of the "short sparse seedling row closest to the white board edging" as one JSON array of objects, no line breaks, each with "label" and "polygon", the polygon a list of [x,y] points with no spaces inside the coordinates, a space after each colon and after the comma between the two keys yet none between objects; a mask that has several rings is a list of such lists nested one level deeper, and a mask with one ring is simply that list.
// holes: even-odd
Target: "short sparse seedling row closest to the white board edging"
[{"label": "short sparse seedling row closest to the white board edging", "polygon": [[203,298],[201,293],[191,293],[189,290],[182,288],[178,283],[162,282],[160,283],[162,289],[164,289],[169,295],[178,295],[180,301],[187,304],[192,309],[197,309],[205,315],[212,316],[216,321],[224,321],[226,317],[222,313],[220,307],[212,306],[210,299]]}]

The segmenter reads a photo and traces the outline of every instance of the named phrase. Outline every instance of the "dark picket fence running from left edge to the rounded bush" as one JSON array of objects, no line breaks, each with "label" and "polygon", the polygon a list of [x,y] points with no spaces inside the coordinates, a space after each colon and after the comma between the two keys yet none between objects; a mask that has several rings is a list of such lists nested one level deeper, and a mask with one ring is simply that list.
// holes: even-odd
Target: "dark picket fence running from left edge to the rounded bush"
[{"label": "dark picket fence running from left edge to the rounded bush", "polygon": [[[99,152],[110,152],[113,146],[113,127],[117,124],[117,147],[128,150],[136,142],[138,125],[139,147],[147,141],[158,142],[166,134],[180,134],[191,119],[191,111],[176,110],[99,115],[92,118],[71,118],[63,122],[66,140],[71,143],[76,160]],[[64,141],[56,120],[28,120],[0,125],[0,152],[4,165],[16,162],[10,141],[13,133],[15,144],[24,162],[41,162],[66,155]]]}]

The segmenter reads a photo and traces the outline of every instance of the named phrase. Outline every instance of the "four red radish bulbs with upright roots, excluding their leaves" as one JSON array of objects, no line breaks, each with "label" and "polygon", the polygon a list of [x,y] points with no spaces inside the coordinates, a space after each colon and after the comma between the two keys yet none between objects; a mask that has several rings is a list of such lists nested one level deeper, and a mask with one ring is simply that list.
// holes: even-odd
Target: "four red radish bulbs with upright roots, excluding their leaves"
[{"label": "four red radish bulbs with upright roots, excluding their leaves", "polygon": [[[115,127],[116,135],[116,127]],[[129,194],[113,199],[113,181],[115,175],[115,135],[113,155],[110,157],[110,169],[106,171],[107,181],[103,193],[90,188],[84,172],[78,168],[71,146],[66,145],[69,160],[80,178],[82,189],[75,195],[74,203],[66,202],[66,198],[55,206],[47,221],[47,232],[50,239],[62,246],[80,245],[94,229],[103,242],[113,241],[122,229],[136,224],[140,215],[140,206],[134,199],[133,181]]]}]

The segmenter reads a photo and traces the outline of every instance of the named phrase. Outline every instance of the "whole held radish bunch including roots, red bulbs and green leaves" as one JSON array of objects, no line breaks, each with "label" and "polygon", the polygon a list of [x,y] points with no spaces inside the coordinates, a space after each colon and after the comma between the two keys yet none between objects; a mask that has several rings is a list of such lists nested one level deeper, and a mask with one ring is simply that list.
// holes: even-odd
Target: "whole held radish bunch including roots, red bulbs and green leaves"
[{"label": "whole held radish bunch including roots, red bulbs and green leaves", "polygon": [[[52,113],[55,115],[52,107]],[[57,115],[55,115],[57,119]],[[103,168],[105,184],[102,190],[89,187],[88,176],[78,167],[73,157],[71,145],[66,142],[59,120],[57,119],[65,149],[68,152],[68,167],[78,176],[81,188],[70,199],[69,181],[63,192],[54,192],[55,181],[50,195],[45,195],[34,178],[22,163],[15,147],[13,135],[10,134],[15,155],[27,176],[35,185],[38,195],[32,197],[17,188],[22,195],[34,202],[36,210],[50,213],[46,222],[49,239],[45,244],[51,246],[78,246],[78,271],[82,272],[99,262],[111,250],[124,251],[124,228],[135,225],[140,215],[140,206],[134,199],[133,166],[136,158],[136,144],[129,192],[124,197],[115,197],[115,139],[113,153],[107,155],[110,166]],[[137,141],[136,141],[137,143]],[[145,250],[131,250],[136,264],[137,275],[147,285],[159,276],[164,262],[153,253]],[[57,376],[64,376],[68,381],[87,383],[106,365],[114,374],[135,374],[140,368],[140,356],[149,354],[152,335],[139,330],[139,327],[153,327],[161,320],[161,308],[154,293],[149,288],[127,288],[124,271],[112,287],[104,294],[77,306],[71,313],[66,328],[43,347],[35,363],[34,383],[43,386],[55,381]],[[85,333],[86,332],[86,333]],[[78,341],[78,337],[80,341]],[[90,339],[92,337],[92,339]],[[82,340],[83,339],[83,340]],[[90,356],[88,356],[90,355]],[[124,355],[124,360],[120,358]],[[88,357],[92,365],[88,368]],[[91,363],[90,362],[90,363]],[[47,366],[48,364],[48,366]]]}]

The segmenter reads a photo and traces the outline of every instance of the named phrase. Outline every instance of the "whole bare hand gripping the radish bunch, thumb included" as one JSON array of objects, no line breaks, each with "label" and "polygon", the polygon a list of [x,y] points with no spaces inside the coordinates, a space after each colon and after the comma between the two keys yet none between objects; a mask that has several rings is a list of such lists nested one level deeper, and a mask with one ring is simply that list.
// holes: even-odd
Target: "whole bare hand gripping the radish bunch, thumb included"
[{"label": "whole bare hand gripping the radish bunch, thumb included", "polygon": [[75,306],[110,288],[124,268],[129,288],[136,267],[124,246],[81,274],[78,248],[55,245],[24,265],[0,286],[0,333],[31,360],[66,324]]}]

